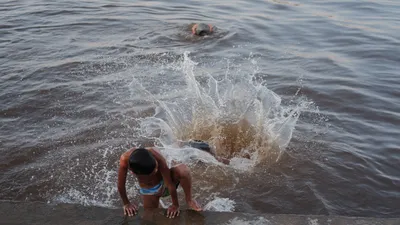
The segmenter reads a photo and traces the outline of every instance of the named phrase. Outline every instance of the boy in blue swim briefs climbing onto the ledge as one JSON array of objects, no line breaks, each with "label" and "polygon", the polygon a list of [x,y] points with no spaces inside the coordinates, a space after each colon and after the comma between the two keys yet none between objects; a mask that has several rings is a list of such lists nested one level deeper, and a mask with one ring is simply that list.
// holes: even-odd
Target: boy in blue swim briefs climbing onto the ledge
[{"label": "boy in blue swim briefs climbing onto the ledge", "polygon": [[201,211],[200,205],[192,199],[192,177],[184,164],[168,168],[165,158],[153,148],[134,148],[121,155],[118,170],[118,192],[124,203],[124,214],[137,214],[138,207],[126,195],[126,175],[128,170],[134,174],[140,186],[145,209],[158,208],[160,197],[171,195],[172,205],[167,209],[167,217],[179,216],[179,203],[176,188],[181,185],[185,192],[187,205]]}]

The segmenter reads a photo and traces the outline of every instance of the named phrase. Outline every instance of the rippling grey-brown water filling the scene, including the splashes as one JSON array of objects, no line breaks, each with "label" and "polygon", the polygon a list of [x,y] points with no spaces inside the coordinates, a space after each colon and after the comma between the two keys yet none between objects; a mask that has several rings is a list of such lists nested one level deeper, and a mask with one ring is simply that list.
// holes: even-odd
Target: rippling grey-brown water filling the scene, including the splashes
[{"label": "rippling grey-brown water filling the scene, including the splashes", "polygon": [[187,163],[209,210],[398,217],[399,9],[2,1],[0,199],[120,207],[119,156],[143,144]]}]

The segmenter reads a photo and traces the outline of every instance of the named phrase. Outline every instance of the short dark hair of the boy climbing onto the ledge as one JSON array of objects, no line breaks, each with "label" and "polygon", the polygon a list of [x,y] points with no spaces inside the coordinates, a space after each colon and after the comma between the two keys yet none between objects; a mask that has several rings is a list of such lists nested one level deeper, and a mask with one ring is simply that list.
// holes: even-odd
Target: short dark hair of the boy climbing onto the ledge
[{"label": "short dark hair of the boy climbing onto the ledge", "polygon": [[156,168],[156,159],[147,149],[138,148],[129,156],[129,168],[135,174],[148,175]]}]

